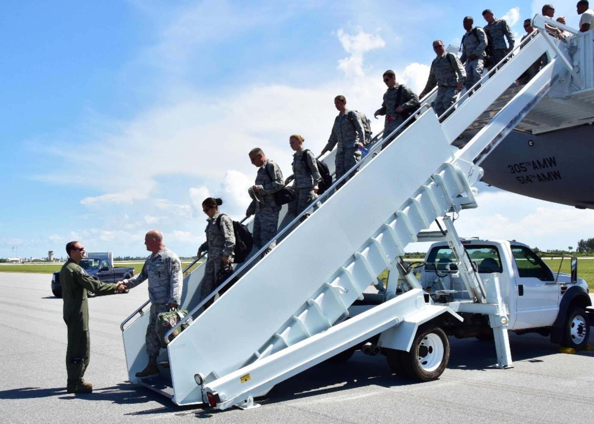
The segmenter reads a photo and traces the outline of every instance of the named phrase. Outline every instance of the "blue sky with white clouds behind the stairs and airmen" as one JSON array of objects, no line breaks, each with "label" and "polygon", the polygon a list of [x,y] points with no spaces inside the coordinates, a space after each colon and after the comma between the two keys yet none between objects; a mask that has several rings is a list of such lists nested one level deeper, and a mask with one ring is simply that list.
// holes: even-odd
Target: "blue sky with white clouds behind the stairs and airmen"
[{"label": "blue sky with white clouds behind the stairs and airmen", "polygon": [[[397,4],[397,6],[396,6]],[[575,1],[555,2],[577,26]],[[179,255],[204,240],[200,203],[241,218],[255,146],[290,172],[290,134],[321,151],[333,98],[372,116],[394,69],[424,86],[431,42],[459,44],[491,8],[516,33],[530,1],[12,1],[0,3],[0,257],[144,255],[163,231]],[[374,129],[381,122],[374,120]],[[461,235],[541,249],[589,237],[592,211],[488,189]],[[514,208],[506,207],[513,202]]]}]

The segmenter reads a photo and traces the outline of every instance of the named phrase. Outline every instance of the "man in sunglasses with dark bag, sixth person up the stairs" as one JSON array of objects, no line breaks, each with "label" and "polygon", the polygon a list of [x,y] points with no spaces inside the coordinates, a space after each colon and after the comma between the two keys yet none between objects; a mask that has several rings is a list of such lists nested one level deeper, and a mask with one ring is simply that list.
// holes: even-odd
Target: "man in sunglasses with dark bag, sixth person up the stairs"
[{"label": "man in sunglasses with dark bag, sixth person up the stairs", "polygon": [[[394,71],[388,69],[384,72],[383,78],[388,89],[384,93],[384,102],[381,104],[380,109],[375,111],[374,117],[377,119],[378,115],[386,115],[386,120],[384,121],[384,138],[386,138],[394,129],[406,121],[410,113],[419,108],[420,103],[419,97],[414,91],[405,86],[405,84],[396,83],[396,74]],[[398,134],[390,137],[390,140],[387,140],[388,143]]]}]

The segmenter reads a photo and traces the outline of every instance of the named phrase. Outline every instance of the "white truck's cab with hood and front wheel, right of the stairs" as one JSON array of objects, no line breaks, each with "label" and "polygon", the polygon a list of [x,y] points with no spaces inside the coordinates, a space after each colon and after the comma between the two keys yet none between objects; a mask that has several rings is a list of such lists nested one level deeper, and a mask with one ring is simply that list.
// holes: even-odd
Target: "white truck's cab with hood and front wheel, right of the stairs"
[{"label": "white truck's cab with hood and front wheel, right of the stairs", "polygon": [[[550,335],[555,343],[583,347],[587,342],[585,333],[589,331],[585,309],[591,306],[586,281],[576,275],[572,278],[571,274],[552,271],[523,243],[462,239],[462,245],[482,280],[494,277],[499,280],[501,298],[508,311],[508,330],[519,334],[538,332]],[[568,260],[577,274],[577,260]],[[421,270],[421,284],[435,302],[470,300],[456,263],[456,255],[447,242],[433,243],[429,248]],[[577,318],[571,318],[576,311]],[[573,339],[568,335],[572,330],[577,332]],[[481,333],[457,331],[456,335],[459,334]],[[576,340],[577,343],[571,343]]]}]

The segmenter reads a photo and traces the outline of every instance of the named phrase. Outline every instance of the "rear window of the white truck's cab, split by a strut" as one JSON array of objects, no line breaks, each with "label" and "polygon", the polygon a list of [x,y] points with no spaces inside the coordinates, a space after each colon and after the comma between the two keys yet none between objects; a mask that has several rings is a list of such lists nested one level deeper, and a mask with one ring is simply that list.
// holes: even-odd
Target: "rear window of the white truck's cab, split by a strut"
[{"label": "rear window of the white truck's cab, split by a strut", "polygon": [[[470,260],[476,262],[479,273],[501,273],[501,257],[495,246],[465,246]],[[457,271],[456,256],[447,246],[432,249],[427,257],[425,271]]]}]

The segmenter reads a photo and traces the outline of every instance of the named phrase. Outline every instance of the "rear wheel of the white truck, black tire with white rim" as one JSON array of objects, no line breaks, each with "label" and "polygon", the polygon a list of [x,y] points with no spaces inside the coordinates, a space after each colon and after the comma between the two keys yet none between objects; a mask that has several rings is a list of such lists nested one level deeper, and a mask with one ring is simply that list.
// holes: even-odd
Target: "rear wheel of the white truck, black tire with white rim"
[{"label": "rear wheel of the white truck, black tire with white rim", "polygon": [[440,378],[450,360],[450,342],[440,327],[421,327],[410,352],[389,350],[386,358],[388,366],[397,375],[433,381]]}]

